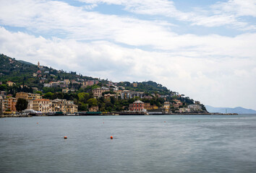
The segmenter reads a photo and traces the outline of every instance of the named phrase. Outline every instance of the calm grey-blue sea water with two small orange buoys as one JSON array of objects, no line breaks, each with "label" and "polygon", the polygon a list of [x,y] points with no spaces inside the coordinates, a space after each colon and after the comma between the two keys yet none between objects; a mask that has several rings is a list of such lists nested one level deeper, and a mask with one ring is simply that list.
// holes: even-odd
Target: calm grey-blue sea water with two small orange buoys
[{"label": "calm grey-blue sea water with two small orange buoys", "polygon": [[0,172],[256,172],[256,115],[0,118]]}]

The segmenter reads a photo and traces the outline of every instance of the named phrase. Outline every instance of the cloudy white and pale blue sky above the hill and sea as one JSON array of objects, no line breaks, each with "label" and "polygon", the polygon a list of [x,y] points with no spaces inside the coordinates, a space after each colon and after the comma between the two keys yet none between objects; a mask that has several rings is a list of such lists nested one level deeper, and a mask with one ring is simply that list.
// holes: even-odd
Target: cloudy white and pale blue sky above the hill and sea
[{"label": "cloudy white and pale blue sky above the hill and sea", "polygon": [[0,53],[256,110],[255,0],[0,0]]}]

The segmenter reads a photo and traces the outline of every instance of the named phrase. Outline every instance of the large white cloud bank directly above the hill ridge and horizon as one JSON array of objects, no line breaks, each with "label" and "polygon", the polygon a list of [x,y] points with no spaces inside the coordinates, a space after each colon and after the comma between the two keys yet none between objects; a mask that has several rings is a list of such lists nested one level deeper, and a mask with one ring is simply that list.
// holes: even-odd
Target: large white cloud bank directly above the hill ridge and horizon
[{"label": "large white cloud bank directly above the hill ridge and horizon", "polygon": [[[213,35],[212,40],[219,40],[212,43],[211,46],[216,48],[209,48],[209,54],[212,51],[213,55],[219,53],[221,56],[226,51],[229,56],[216,58],[208,55],[204,58],[206,54],[202,53],[203,56],[200,56],[198,50],[195,50],[197,57],[192,56],[192,52],[184,53],[179,49],[159,52],[124,48],[108,41],[83,43],[56,37],[46,39],[24,32],[9,32],[0,27],[0,50],[17,59],[33,63],[40,61],[44,66],[77,71],[83,75],[112,81],[157,81],[172,91],[180,92],[207,105],[255,109],[255,51],[252,49],[242,58],[239,55],[242,50],[236,50],[236,44],[246,43],[247,37],[252,35]],[[200,40],[200,37],[193,39]],[[209,39],[210,36],[205,40]],[[239,40],[243,40],[244,43],[238,42]],[[224,46],[219,52],[215,52],[221,48],[221,42],[230,45],[227,50]],[[232,46],[234,48],[231,48]],[[233,55],[229,53],[230,48],[234,51]]]}]

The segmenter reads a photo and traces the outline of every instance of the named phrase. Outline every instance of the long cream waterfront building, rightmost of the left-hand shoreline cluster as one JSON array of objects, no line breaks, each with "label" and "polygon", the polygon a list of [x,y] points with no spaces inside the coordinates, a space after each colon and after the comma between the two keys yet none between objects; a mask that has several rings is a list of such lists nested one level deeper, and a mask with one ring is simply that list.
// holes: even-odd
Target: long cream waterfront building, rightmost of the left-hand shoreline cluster
[{"label": "long cream waterfront building, rightmost of the left-hand shoreline cluster", "polygon": [[77,105],[73,101],[67,99],[54,99],[52,100],[51,110],[53,112],[74,113],[77,112]]}]

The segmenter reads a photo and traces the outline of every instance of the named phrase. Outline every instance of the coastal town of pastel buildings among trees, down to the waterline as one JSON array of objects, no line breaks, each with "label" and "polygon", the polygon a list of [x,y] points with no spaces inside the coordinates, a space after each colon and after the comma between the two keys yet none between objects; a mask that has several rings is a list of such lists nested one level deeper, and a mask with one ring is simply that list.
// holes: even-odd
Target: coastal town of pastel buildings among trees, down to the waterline
[{"label": "coastal town of pastel buildings among trees, down to the waterline", "polygon": [[[17,63],[8,58],[7,65]],[[24,65],[15,65],[19,68]],[[85,78],[76,72],[38,65],[23,81],[0,81],[0,113],[15,115],[172,115],[207,114],[204,105],[171,92],[161,84],[147,82],[113,82]],[[65,76],[64,76],[65,75]],[[1,74],[4,76],[4,74]],[[29,84],[27,79],[35,80]],[[38,82],[38,84],[35,84]],[[17,110],[24,99],[27,106]]]}]

